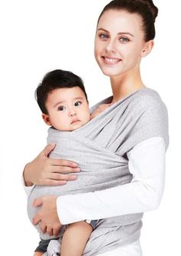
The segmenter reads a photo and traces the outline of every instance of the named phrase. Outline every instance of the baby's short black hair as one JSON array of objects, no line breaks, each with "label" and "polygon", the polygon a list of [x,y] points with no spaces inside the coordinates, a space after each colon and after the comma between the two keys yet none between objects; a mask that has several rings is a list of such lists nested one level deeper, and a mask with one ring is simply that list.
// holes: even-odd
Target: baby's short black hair
[{"label": "baby's short black hair", "polygon": [[38,105],[42,113],[48,115],[48,111],[45,104],[48,98],[48,94],[51,91],[58,88],[73,88],[76,86],[81,88],[87,99],[87,94],[84,88],[83,81],[79,76],[75,75],[71,71],[56,69],[44,75],[43,80],[38,85],[38,88],[36,88],[35,91],[35,98],[38,102]]}]

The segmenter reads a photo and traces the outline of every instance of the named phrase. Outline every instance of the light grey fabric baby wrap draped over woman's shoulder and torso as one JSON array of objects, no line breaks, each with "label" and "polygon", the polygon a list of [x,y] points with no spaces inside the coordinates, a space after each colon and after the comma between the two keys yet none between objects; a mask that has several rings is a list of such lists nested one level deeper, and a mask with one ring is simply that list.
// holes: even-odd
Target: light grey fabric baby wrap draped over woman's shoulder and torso
[{"label": "light grey fabric baby wrap draped over woman's shoulder and torso", "polygon": [[[101,101],[91,111],[111,100],[112,97]],[[158,93],[150,88],[134,91],[77,130],[50,128],[48,143],[56,143],[50,157],[75,161],[81,172],[76,181],[67,182],[64,186],[35,186],[28,198],[30,220],[38,211],[31,204],[40,196],[86,193],[130,183],[132,175],[127,152],[140,141],[155,136],[162,137],[168,147],[166,106]],[[119,196],[124,194],[117,194]],[[100,220],[87,242],[84,256],[101,254],[137,241],[142,217],[142,213],[136,213]],[[60,237],[63,232],[64,228]],[[50,237],[41,234],[41,238]]]}]

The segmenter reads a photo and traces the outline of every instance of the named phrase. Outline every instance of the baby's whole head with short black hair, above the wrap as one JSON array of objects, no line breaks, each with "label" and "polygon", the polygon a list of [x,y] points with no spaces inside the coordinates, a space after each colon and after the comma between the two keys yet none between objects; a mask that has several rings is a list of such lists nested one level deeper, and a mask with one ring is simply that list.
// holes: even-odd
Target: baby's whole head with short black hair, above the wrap
[{"label": "baby's whole head with short black hair, above the wrap", "polygon": [[54,70],[44,75],[35,98],[47,125],[61,131],[74,131],[90,120],[83,81],[71,71]]}]

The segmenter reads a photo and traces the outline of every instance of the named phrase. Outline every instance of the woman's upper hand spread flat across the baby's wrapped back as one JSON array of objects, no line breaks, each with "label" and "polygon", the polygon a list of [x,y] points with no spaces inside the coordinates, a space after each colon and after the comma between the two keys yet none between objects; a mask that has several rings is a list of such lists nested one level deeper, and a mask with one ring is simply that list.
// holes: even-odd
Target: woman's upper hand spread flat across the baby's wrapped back
[{"label": "woman's upper hand spread flat across the baby's wrapped back", "polygon": [[73,161],[48,158],[55,144],[47,145],[33,161],[25,166],[25,185],[64,185],[67,181],[74,181],[77,176],[69,175],[79,172],[77,164]]}]

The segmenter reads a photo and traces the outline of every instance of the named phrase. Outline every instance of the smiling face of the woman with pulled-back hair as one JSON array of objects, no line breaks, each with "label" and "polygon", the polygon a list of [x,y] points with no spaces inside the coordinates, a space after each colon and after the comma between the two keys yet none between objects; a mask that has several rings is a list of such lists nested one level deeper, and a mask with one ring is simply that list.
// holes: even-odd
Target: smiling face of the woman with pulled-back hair
[{"label": "smiling face of the woman with pulled-back hair", "polygon": [[94,55],[105,75],[117,76],[139,68],[146,42],[142,18],[126,11],[109,10],[100,17]]}]

